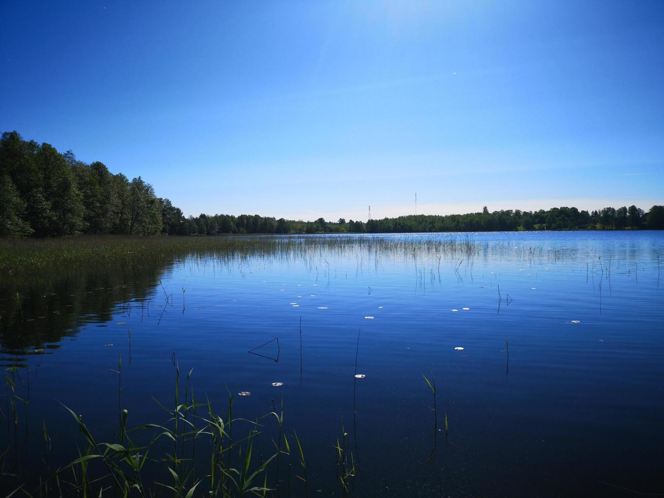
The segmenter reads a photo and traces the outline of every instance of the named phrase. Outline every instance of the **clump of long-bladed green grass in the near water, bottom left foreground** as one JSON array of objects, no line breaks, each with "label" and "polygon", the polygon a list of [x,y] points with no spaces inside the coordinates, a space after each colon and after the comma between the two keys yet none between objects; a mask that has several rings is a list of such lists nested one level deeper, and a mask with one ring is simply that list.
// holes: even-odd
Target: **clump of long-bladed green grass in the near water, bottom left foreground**
[{"label": "clump of long-bladed green grass in the near water, bottom left foreground", "polygon": [[[266,446],[266,441],[261,437],[264,431],[262,422],[259,419],[236,418],[233,414],[234,394],[230,392],[225,416],[215,413],[210,400],[197,403],[191,385],[193,369],[187,374],[182,390],[179,365],[177,361],[174,363],[173,406],[167,408],[155,400],[167,413],[165,422],[129,428],[129,410],[123,407],[120,411],[118,439],[114,442],[100,442],[84,422],[83,416],[63,404],[63,409],[74,419],[82,438],[82,444],[76,447],[74,459],[52,469],[48,457],[51,439],[44,421],[42,438],[45,456],[39,479],[34,477],[25,480],[20,473],[9,474],[5,471],[0,473],[0,478],[13,479],[11,489],[29,497],[54,493],[58,496],[193,498],[205,493],[206,496],[222,498],[247,495],[265,497],[273,492],[279,495],[282,482],[287,483],[286,488],[291,495],[291,444],[284,425],[284,400],[280,408],[274,405],[273,400],[272,412],[260,417],[276,420],[278,429],[278,438],[272,440],[274,452],[264,457],[262,452],[269,445]],[[118,370],[114,372],[118,376],[122,372],[120,357]],[[18,376],[17,370],[5,373],[8,390],[20,385]],[[203,413],[197,413],[197,408],[203,408]],[[9,427],[18,427],[18,424],[19,418],[16,417],[15,421],[10,421]],[[232,426],[236,424],[242,424],[248,429],[244,436],[237,439],[232,437],[232,432],[236,432],[232,431]],[[240,431],[243,430],[240,428]],[[292,491],[295,495],[308,496],[303,446],[297,434],[292,434],[297,443],[296,451],[299,452],[302,469],[301,475],[297,477],[303,482],[303,489],[298,486]],[[8,446],[4,453],[7,454],[10,448]],[[282,457],[288,460],[287,469],[282,469]],[[0,459],[4,464],[3,455],[0,455]],[[353,461],[348,468],[350,475],[353,473]],[[7,488],[9,482],[0,481]]]}]

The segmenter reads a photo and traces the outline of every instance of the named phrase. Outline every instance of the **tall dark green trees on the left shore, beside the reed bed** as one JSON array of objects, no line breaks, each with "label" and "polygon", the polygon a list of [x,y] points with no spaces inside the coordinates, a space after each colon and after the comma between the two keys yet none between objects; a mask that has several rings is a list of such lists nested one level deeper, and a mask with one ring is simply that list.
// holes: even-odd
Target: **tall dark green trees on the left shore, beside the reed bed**
[{"label": "tall dark green trees on the left shore, beside the reed bed", "polygon": [[162,232],[161,199],[141,177],[129,182],[16,131],[0,139],[0,180],[0,236]]}]

